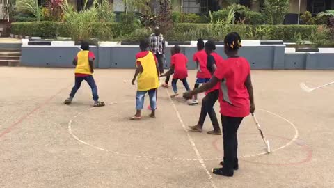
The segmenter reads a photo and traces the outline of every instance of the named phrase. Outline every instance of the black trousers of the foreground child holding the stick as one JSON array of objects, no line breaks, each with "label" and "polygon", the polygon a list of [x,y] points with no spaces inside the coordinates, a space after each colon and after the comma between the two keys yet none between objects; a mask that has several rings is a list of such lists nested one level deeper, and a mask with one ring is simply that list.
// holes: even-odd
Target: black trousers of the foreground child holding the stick
[{"label": "black trousers of the foreground child holding the stick", "polygon": [[244,118],[221,116],[223,125],[224,168],[233,171],[233,166],[238,162],[238,138],[237,131]]}]

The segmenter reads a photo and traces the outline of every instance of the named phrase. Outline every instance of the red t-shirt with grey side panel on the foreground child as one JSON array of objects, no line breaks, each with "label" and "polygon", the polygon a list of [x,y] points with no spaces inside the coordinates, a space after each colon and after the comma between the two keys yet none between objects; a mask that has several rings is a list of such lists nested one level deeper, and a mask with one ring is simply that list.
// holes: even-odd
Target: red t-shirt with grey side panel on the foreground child
[{"label": "red t-shirt with grey side panel on the foreground child", "polygon": [[245,86],[248,75],[250,75],[250,65],[246,58],[242,57],[223,60],[214,72],[214,76],[222,80],[219,103],[223,116],[246,117],[249,115],[249,93]]}]

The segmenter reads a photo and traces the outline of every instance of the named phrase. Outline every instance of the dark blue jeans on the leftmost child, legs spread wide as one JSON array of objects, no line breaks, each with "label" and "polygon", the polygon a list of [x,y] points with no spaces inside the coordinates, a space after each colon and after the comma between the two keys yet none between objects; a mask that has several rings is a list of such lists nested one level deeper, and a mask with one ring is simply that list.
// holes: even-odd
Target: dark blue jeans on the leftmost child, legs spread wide
[{"label": "dark blue jeans on the leftmost child, legs spread wide", "polygon": [[97,101],[99,100],[99,95],[97,95],[97,86],[95,84],[94,78],[92,75],[89,75],[87,77],[75,77],[75,84],[72,88],[72,91],[70,93],[70,97],[74,98],[75,93],[77,93],[77,91],[79,90],[80,86],[81,86],[81,82],[82,81],[87,81],[88,85],[90,86],[90,88],[92,89],[92,93],[93,93],[93,100]]}]

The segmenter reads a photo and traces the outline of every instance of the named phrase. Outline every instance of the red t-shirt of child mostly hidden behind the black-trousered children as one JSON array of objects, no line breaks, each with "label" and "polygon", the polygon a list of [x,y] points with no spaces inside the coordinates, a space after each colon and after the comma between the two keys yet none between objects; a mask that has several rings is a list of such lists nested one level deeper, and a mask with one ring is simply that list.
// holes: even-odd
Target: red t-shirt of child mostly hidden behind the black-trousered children
[{"label": "red t-shirt of child mostly hidden behind the black-trousered children", "polygon": [[193,54],[193,61],[198,62],[197,78],[211,78],[211,74],[207,70],[207,53],[204,49]]}]

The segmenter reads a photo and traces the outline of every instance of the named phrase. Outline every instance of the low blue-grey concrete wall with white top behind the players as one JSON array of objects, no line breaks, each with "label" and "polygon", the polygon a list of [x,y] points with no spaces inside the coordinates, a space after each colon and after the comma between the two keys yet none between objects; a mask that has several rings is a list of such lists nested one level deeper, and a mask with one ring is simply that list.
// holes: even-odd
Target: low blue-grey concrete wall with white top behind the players
[{"label": "low blue-grey concrete wall with white top behind the players", "polygon": [[[277,41],[273,41],[273,43]],[[294,48],[286,48],[285,45],[260,45],[259,40],[244,40],[239,54],[248,59],[250,67],[255,70],[334,70],[334,49],[323,48],[319,52],[296,52]],[[262,42],[263,43],[263,42]],[[41,43],[42,44],[42,43]],[[191,45],[181,45],[181,51],[189,60],[188,68],[195,69],[193,54],[196,53],[196,41]],[[166,45],[166,62],[169,67],[170,48]],[[99,47],[91,47],[96,60],[96,68],[134,68],[135,55],[139,47],[122,46],[118,42],[102,43]],[[22,41],[22,65],[37,67],[73,67],[72,60],[79,52],[79,46],[74,42],[51,42],[51,46],[30,46]],[[223,46],[217,45],[216,52],[223,54]]]}]

